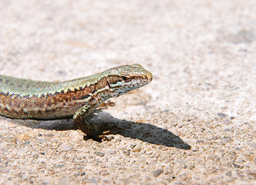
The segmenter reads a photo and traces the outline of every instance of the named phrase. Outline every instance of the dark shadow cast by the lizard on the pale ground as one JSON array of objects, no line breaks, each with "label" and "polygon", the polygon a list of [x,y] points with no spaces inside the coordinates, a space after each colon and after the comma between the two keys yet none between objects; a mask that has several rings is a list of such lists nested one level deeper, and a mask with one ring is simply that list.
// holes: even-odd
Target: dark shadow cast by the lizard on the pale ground
[{"label": "dark shadow cast by the lizard on the pale ground", "polygon": [[[7,119],[7,118],[5,118]],[[117,119],[102,110],[96,110],[87,121],[99,130],[110,130],[111,134],[120,134],[125,137],[141,140],[155,145],[176,147],[190,150],[191,146],[169,130],[153,126],[149,123],[136,123],[125,119]],[[72,119],[12,119],[12,123],[44,130],[77,130]]]}]

